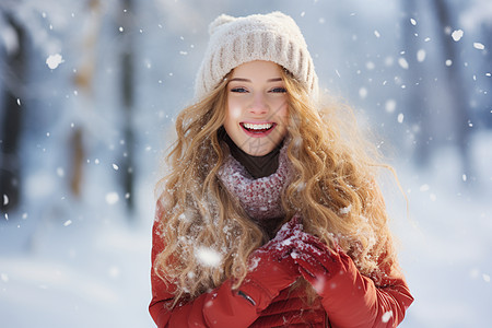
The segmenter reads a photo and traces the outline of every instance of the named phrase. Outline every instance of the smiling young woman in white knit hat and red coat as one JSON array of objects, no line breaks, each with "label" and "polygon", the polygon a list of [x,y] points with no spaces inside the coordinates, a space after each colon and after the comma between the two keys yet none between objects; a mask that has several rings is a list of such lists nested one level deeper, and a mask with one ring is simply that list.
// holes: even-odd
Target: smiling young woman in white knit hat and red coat
[{"label": "smiling young woman in white knit hat and red coat", "polygon": [[210,34],[160,184],[157,327],[396,327],[413,298],[376,184],[384,165],[340,106],[320,105],[297,25],[221,15]]}]

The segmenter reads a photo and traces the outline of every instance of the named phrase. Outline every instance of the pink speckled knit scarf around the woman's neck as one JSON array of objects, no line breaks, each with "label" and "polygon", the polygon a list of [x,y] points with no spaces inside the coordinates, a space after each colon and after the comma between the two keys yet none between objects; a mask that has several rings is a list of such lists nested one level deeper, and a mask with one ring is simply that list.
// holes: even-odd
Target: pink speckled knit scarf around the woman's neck
[{"label": "pink speckled knit scarf around the woman's neck", "polygon": [[281,196],[292,179],[286,145],[280,150],[277,172],[254,179],[246,168],[231,154],[219,169],[219,179],[254,220],[283,218]]}]

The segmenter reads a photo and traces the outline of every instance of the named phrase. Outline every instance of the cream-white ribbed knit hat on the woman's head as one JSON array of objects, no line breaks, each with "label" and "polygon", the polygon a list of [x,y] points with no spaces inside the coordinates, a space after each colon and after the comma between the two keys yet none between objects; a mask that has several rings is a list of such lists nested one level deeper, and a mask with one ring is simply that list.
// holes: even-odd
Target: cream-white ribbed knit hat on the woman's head
[{"label": "cream-white ribbed knit hat on the woman's head", "polygon": [[294,20],[281,12],[233,17],[222,14],[209,26],[210,42],[198,70],[195,96],[201,99],[235,67],[253,60],[273,61],[318,96],[318,77]]}]

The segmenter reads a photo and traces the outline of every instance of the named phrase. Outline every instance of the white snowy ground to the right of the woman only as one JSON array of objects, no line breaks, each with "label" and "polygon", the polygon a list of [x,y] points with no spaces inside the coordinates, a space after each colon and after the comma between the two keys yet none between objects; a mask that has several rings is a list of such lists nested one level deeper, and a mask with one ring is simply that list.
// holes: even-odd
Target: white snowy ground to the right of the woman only
[{"label": "white snowy ground to the right of the woman only", "polygon": [[434,154],[431,173],[403,174],[411,218],[395,231],[417,301],[401,327],[491,327],[492,136],[476,137],[475,189],[452,150]]}]

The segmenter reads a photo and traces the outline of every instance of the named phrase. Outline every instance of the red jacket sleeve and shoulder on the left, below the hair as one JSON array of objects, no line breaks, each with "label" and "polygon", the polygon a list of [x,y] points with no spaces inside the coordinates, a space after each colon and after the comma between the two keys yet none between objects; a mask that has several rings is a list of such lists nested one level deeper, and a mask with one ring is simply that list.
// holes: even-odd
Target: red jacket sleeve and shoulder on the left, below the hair
[{"label": "red jacket sleeve and shoulder on the left, below the hair", "polygon": [[[157,211],[157,215],[160,215]],[[254,300],[254,305],[247,297],[239,295],[232,289],[232,282],[225,281],[222,285],[209,293],[204,293],[194,301],[169,306],[174,302],[175,286],[165,283],[154,271],[154,261],[164,249],[164,243],[157,232],[157,221],[152,231],[152,301],[149,312],[159,328],[163,327],[248,327],[268,306],[274,295],[266,292],[254,283],[245,283],[241,290]]]}]

